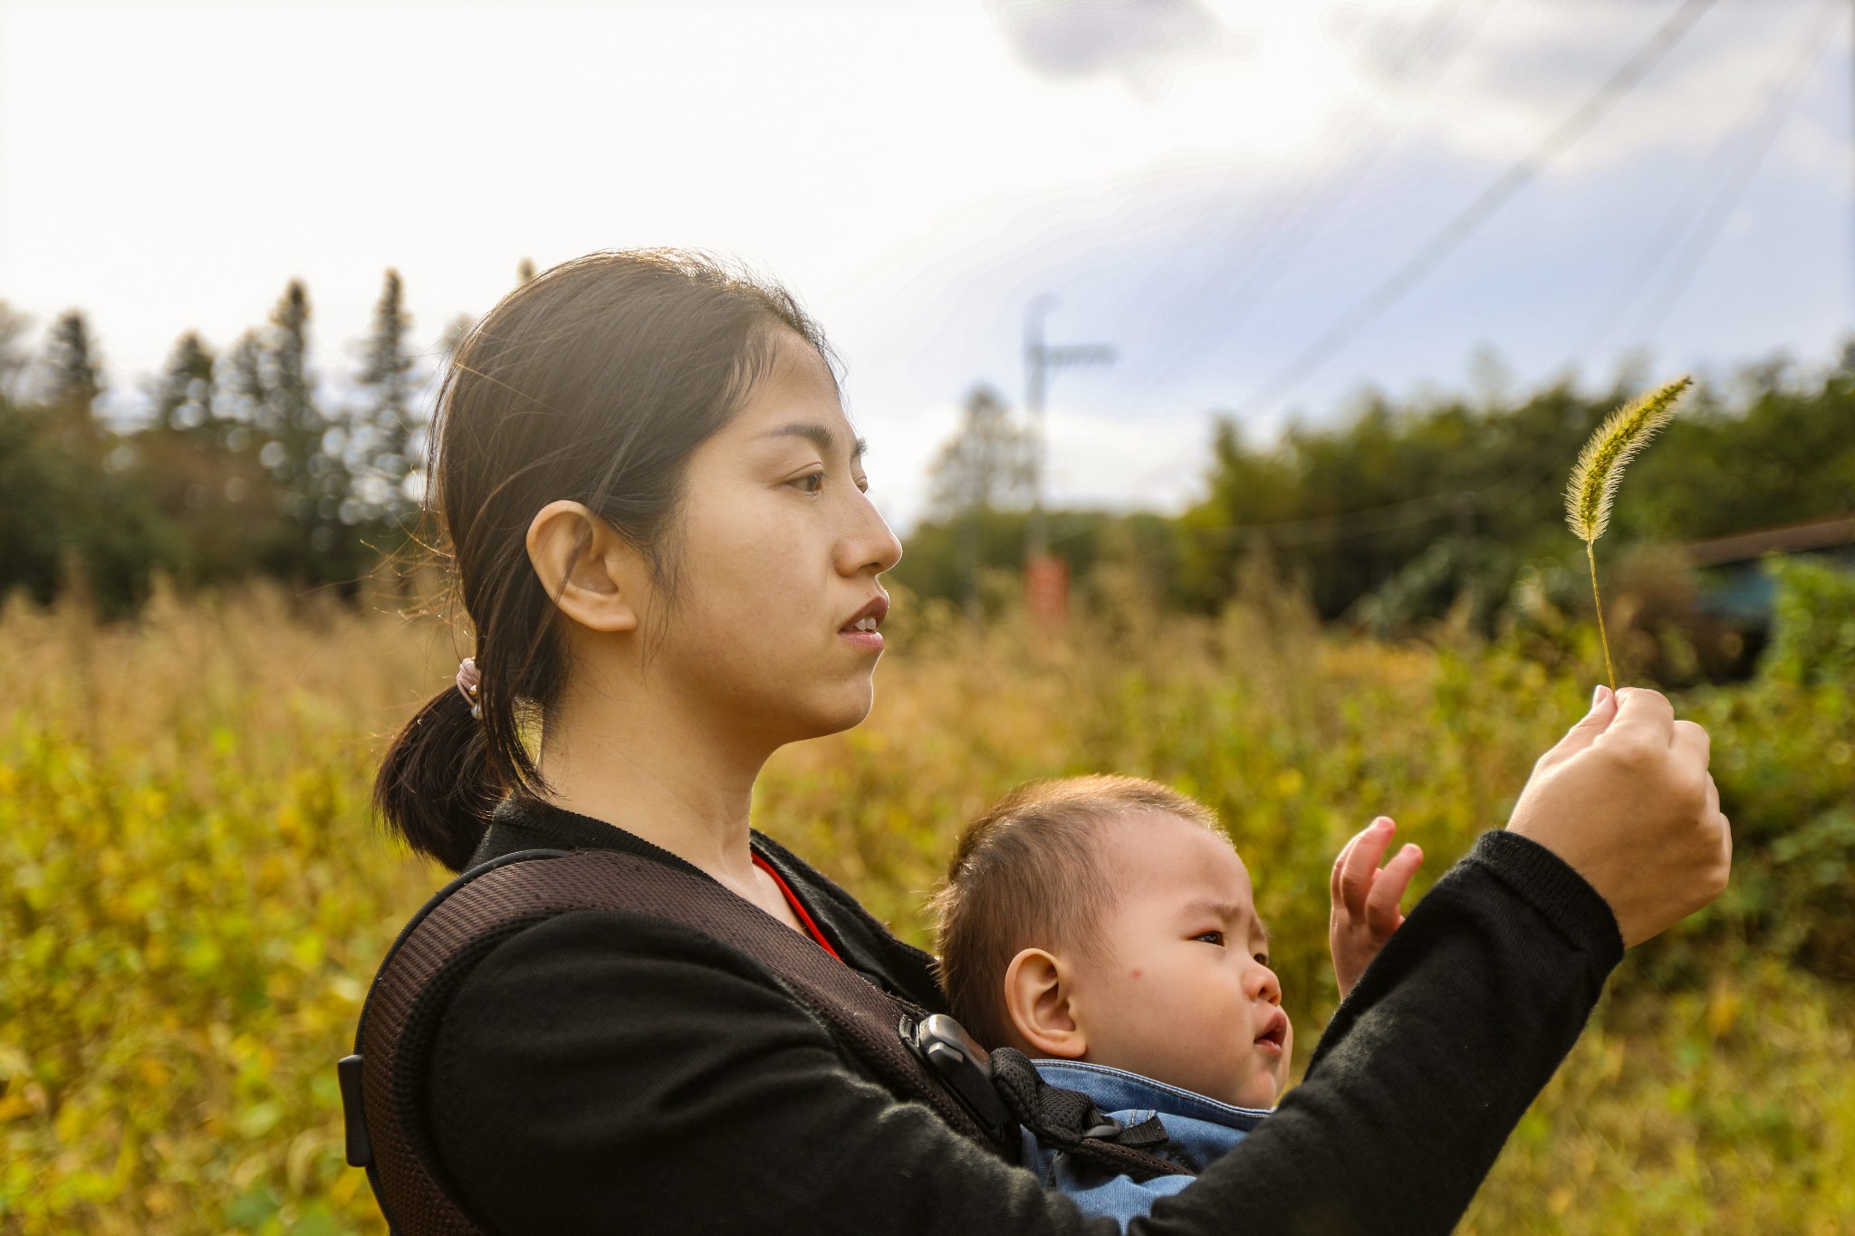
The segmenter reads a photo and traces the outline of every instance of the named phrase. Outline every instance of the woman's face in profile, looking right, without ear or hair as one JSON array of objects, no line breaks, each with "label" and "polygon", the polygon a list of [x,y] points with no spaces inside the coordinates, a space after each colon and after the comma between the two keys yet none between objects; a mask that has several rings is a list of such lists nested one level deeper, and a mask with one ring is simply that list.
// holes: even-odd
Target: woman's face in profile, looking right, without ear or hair
[{"label": "woman's face in profile, looking right, without ear or hair", "polygon": [[746,406],[690,456],[647,675],[753,741],[863,721],[889,612],[876,576],[902,558],[866,487],[824,359],[781,332]]}]

